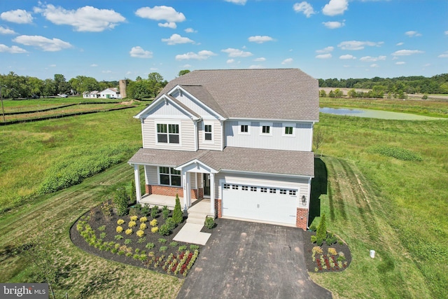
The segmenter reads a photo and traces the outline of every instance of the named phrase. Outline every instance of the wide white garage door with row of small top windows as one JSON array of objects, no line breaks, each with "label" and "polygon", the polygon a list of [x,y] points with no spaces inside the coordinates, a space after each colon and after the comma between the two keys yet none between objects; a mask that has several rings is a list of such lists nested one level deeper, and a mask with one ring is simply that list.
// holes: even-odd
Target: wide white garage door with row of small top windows
[{"label": "wide white garage door with row of small top windows", "polygon": [[295,225],[299,190],[223,183],[223,216]]}]

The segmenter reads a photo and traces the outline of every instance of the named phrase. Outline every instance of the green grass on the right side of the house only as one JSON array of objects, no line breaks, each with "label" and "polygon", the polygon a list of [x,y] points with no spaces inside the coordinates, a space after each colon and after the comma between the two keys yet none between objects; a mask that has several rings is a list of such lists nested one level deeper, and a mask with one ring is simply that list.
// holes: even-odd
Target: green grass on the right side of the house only
[{"label": "green grass on the right side of the house only", "polygon": [[[311,218],[316,225],[318,215],[327,215],[328,230],[349,244],[352,262],[340,274],[311,278],[335,298],[446,298],[448,121],[320,116],[323,157],[314,186],[320,210],[314,207]],[[399,148],[421,161],[374,153],[372,146]]]}]

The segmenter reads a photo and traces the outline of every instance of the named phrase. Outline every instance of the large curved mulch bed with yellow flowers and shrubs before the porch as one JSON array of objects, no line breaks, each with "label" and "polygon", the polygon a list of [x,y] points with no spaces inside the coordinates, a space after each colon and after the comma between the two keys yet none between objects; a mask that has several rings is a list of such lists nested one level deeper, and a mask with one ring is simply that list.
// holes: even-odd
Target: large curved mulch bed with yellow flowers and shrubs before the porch
[{"label": "large curved mulch bed with yellow flowers and shrubs before the porch", "polygon": [[[71,241],[80,249],[83,249],[84,251],[92,253],[96,256],[106,258],[108,260],[115,260],[117,262],[125,263],[128,265],[144,267],[149,270],[154,270],[165,274],[172,274],[179,278],[185,277],[186,274],[184,275],[183,273],[190,272],[190,269],[186,269],[188,264],[190,263],[190,260],[192,260],[193,258],[194,263],[194,260],[197,259],[198,253],[196,254],[196,257],[194,257],[195,249],[198,249],[198,251],[202,249],[202,246],[196,244],[188,244],[184,242],[176,242],[176,244],[172,243],[174,242],[173,237],[176,236],[179,230],[181,230],[183,225],[186,223],[186,216],[183,217],[182,223],[177,225],[176,228],[172,230],[171,234],[163,236],[160,235],[159,232],[151,232],[152,226],[150,225],[150,222],[153,220],[153,218],[151,217],[151,212],[145,213],[144,211],[135,209],[135,211],[131,211],[131,214],[132,213],[137,214],[138,220],[135,221],[137,225],[133,228],[132,235],[126,235],[125,230],[128,228],[128,225],[131,221],[129,214],[125,216],[117,216],[115,212],[112,212],[110,218],[107,219],[102,213],[102,209],[100,206],[94,207],[83,216],[81,216],[78,221],[76,221],[76,223],[72,225],[70,229]],[[172,216],[172,213],[173,211],[169,211],[169,217]],[[139,242],[139,240],[141,240],[142,238],[137,236],[137,230],[139,229],[139,225],[141,225],[141,221],[139,221],[139,219],[143,216],[146,216],[146,218],[148,218],[148,221],[145,222],[147,228],[144,229],[144,238],[146,239],[144,240],[144,242]],[[116,228],[118,226],[118,219],[123,219],[125,221],[125,223],[120,225],[123,227],[123,232],[120,233],[116,231]],[[158,221],[158,224],[156,225],[158,226],[158,228],[165,224],[165,219],[162,217],[161,210],[159,210],[158,216],[155,217],[155,219]],[[86,225],[90,225],[90,228],[92,228],[94,232],[94,239],[96,239],[96,241],[94,243],[92,242],[92,244],[89,244],[86,239],[80,234],[80,232],[85,229]],[[78,228],[83,229],[78,231]],[[103,238],[101,238],[102,233],[106,234]],[[116,235],[121,235],[123,239],[116,239]],[[164,242],[163,244],[160,243],[160,238],[166,239],[166,242]],[[125,244],[126,239],[129,239],[130,243]],[[154,246],[153,248],[148,249],[146,245],[150,242],[153,243]],[[193,248],[190,247],[192,245]],[[166,250],[163,252],[160,251],[160,248],[162,246],[166,246]],[[186,246],[186,249],[179,251],[180,246]],[[113,250],[114,248],[115,250]],[[124,253],[119,255],[118,251],[120,251],[120,249],[123,249],[123,251],[128,254],[126,255]],[[178,270],[178,272],[175,273],[174,271],[177,265],[181,263],[182,258],[186,253],[188,253],[188,251],[190,251],[190,254],[188,257],[186,257],[185,262],[182,263],[183,266],[181,270]],[[142,255],[146,255],[146,258],[141,257]],[[172,257],[169,258],[169,256]],[[177,262],[174,261],[173,263],[173,260],[175,258]],[[193,266],[193,263],[191,263],[189,267]],[[171,265],[170,269],[168,269],[169,265]]]}]

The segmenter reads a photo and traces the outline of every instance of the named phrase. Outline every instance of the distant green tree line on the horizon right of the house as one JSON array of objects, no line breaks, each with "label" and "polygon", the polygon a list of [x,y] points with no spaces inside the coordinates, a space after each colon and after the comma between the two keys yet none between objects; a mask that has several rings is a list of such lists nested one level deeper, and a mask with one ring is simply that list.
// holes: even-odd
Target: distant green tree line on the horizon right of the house
[{"label": "distant green tree line on the horizon right of the house", "polygon": [[[436,94],[448,93],[448,74],[435,75],[430,78],[424,76],[407,76],[397,78],[349,78],[349,79],[318,79],[321,88],[376,88],[383,95],[398,95],[400,93]],[[372,96],[374,97],[374,96]],[[377,94],[376,97],[379,97]]]}]

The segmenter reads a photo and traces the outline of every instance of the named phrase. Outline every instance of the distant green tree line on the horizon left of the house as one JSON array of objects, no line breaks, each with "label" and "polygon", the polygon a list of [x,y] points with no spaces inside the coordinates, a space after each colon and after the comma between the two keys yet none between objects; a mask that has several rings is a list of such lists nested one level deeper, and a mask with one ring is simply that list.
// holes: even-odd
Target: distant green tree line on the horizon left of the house
[{"label": "distant green tree line on the horizon left of the house", "polygon": [[19,76],[10,71],[7,75],[0,74],[0,87],[4,99],[22,99],[52,97],[61,94],[78,95],[85,91],[118,88],[118,81],[98,82],[95,78],[87,76],[76,76],[76,78],[66,81],[62,74],[55,74],[54,78],[41,80],[36,77]]}]

